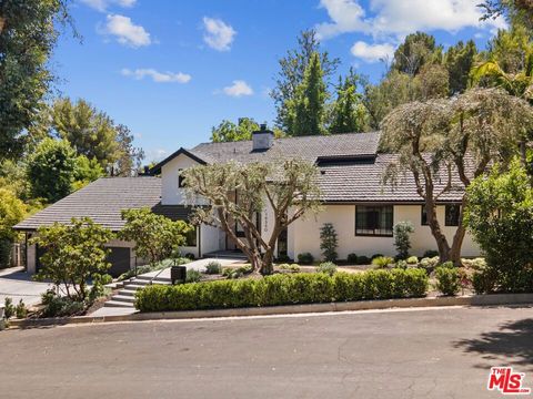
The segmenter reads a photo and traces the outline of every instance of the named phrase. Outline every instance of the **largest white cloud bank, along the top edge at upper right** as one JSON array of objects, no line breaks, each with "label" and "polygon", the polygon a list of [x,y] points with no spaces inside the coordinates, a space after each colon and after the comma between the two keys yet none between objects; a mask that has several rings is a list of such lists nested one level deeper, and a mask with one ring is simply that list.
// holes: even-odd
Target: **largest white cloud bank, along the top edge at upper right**
[{"label": "largest white cloud bank, along the top edge at upper right", "polygon": [[359,0],[321,0],[331,21],[316,25],[322,39],[346,32],[402,39],[416,30],[455,32],[463,28],[504,28],[502,18],[480,21],[480,0],[370,0],[369,13]]}]

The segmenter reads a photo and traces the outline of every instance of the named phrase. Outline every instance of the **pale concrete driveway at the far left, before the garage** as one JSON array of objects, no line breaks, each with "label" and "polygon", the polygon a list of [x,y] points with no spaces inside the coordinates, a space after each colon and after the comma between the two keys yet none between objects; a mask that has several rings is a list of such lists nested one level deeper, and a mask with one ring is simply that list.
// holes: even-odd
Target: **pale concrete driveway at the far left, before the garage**
[{"label": "pale concrete driveway at the far left, before the garage", "polygon": [[33,282],[31,275],[21,267],[0,269],[0,306],[3,306],[6,297],[13,299],[13,304],[18,304],[20,299],[26,305],[39,304],[41,294],[48,288],[52,288],[52,285]]}]

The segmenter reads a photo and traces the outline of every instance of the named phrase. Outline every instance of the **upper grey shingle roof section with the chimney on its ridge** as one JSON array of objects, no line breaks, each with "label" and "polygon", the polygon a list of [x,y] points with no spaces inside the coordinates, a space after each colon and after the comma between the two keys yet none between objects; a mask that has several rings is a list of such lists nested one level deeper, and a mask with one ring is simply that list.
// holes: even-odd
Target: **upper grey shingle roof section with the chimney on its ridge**
[{"label": "upper grey shingle roof section with the chimney on its ridge", "polygon": [[190,150],[192,154],[212,162],[275,161],[301,157],[314,162],[320,156],[369,155],[378,152],[380,133],[346,133],[321,136],[274,139],[266,151],[252,151],[252,141],[202,143]]}]

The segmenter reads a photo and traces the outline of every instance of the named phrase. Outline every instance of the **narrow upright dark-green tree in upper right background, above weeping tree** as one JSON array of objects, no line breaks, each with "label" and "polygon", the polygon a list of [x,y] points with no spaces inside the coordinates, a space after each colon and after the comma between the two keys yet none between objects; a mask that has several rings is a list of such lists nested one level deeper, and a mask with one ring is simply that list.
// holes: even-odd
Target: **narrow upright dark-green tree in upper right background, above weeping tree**
[{"label": "narrow upright dark-green tree in upper right background, above weeping tree", "polygon": [[470,70],[474,65],[477,48],[473,40],[466,43],[459,41],[451,45],[444,54],[444,65],[450,74],[450,94],[462,93],[469,86]]}]

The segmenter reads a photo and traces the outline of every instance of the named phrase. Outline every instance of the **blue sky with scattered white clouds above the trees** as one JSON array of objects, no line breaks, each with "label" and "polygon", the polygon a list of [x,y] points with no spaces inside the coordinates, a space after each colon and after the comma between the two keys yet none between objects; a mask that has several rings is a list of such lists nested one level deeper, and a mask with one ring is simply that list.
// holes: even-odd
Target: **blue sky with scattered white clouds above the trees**
[{"label": "blue sky with scattered white clouds above the trees", "polygon": [[278,60],[314,28],[323,50],[373,82],[416,30],[447,48],[479,48],[502,20],[480,0],[73,0],[81,40],[61,35],[58,92],[84,99],[132,131],[147,163],[207,142],[211,127],[249,116],[273,123]]}]

